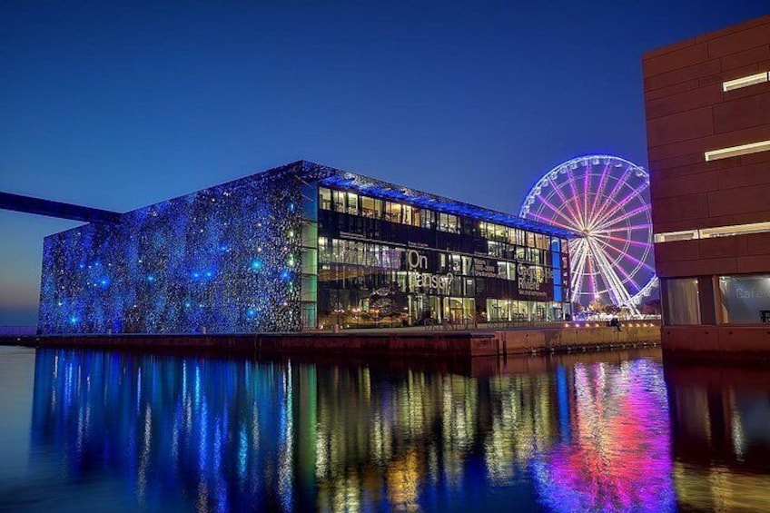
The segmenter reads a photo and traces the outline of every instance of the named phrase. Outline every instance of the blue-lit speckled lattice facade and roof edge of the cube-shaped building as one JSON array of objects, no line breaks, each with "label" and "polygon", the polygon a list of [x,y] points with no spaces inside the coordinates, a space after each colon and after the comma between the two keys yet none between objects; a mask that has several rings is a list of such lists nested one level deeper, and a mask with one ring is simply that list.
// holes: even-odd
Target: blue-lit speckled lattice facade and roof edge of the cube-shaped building
[{"label": "blue-lit speckled lattice facade and roof edge of the cube-shaped building", "polygon": [[117,224],[85,224],[46,237],[41,332],[300,330],[303,223],[318,219],[311,212],[317,192],[302,192],[309,184],[313,191],[321,184],[570,236],[301,161],[123,213]]}]

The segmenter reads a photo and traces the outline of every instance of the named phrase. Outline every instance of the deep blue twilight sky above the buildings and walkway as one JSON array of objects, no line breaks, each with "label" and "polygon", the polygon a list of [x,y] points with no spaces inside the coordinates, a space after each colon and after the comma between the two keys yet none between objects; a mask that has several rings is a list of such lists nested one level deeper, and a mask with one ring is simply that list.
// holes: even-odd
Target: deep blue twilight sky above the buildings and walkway
[{"label": "deep blue twilight sky above the buildings and walkway", "polygon": [[[508,212],[585,153],[647,166],[641,54],[766,0],[0,4],[0,191],[128,211],[301,158]],[[0,211],[0,326],[43,237]]]}]

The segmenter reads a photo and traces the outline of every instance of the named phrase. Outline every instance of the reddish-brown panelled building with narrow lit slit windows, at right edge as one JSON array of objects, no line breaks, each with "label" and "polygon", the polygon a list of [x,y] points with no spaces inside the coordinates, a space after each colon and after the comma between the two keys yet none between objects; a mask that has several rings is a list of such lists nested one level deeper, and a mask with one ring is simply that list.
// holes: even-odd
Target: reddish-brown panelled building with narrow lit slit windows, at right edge
[{"label": "reddish-brown panelled building with narrow lit slit windows, at right edge", "polygon": [[644,55],[664,349],[770,341],[770,15]]}]

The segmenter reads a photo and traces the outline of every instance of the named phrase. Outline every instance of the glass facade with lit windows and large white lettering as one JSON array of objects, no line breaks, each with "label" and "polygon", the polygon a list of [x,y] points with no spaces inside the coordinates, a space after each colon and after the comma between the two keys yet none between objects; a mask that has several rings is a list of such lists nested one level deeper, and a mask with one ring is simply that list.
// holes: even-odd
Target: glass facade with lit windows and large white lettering
[{"label": "glass facade with lit windows and large white lettering", "polygon": [[569,313],[565,239],[360,192],[319,187],[318,197],[319,327]]}]

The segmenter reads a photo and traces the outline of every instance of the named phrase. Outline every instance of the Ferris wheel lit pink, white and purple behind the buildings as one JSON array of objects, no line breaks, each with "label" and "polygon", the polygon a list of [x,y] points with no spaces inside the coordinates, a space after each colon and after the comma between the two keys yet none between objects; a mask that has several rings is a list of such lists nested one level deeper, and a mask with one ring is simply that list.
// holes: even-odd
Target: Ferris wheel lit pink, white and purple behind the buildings
[{"label": "Ferris wheel lit pink, white and purple behind the buildings", "polygon": [[569,241],[571,301],[637,311],[656,286],[649,175],[611,155],[587,155],[546,173],[521,217],[576,233]]}]

